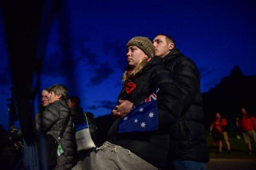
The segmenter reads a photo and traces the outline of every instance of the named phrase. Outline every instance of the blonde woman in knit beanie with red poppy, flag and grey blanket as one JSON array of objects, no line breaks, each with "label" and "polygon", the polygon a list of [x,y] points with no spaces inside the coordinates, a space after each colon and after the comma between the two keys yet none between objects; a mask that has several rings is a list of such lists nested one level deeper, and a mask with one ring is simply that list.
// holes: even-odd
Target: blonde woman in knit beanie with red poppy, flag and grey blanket
[{"label": "blonde woman in knit beanie with red poppy, flag and grey blanket", "polygon": [[[135,118],[132,120],[129,114],[117,119],[108,132],[108,142],[84,159],[83,169],[164,168],[170,126],[177,121],[182,109],[181,92],[161,59],[154,57],[154,46],[148,38],[134,37],[127,43],[126,49],[128,67],[122,77],[124,87],[118,99],[132,102],[135,111],[129,114],[136,117],[136,114],[143,113],[140,104],[157,90],[156,108],[150,107],[156,112],[146,115],[148,119],[156,120],[147,129],[147,122]],[[128,119],[131,124],[124,124]]]}]

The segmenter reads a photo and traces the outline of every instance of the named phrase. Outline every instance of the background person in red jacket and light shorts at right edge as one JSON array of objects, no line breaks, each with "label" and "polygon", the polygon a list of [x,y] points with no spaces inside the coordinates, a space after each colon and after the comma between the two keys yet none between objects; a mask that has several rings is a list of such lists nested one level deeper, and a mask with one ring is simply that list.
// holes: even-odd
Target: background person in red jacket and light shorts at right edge
[{"label": "background person in red jacket and light shorts at right edge", "polygon": [[249,154],[252,154],[252,144],[250,138],[256,144],[256,118],[249,116],[245,108],[241,109],[241,118],[237,119],[237,126],[243,131],[244,141],[248,144]]}]

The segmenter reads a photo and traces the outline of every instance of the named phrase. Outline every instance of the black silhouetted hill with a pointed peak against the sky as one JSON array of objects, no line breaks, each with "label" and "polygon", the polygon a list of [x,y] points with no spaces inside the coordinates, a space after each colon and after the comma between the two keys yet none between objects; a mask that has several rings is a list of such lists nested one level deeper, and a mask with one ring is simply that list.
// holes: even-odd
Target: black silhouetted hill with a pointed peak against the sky
[{"label": "black silhouetted hill with a pointed peak against the sky", "polygon": [[221,82],[203,93],[203,107],[205,122],[209,126],[216,112],[232,122],[240,115],[240,109],[246,107],[249,113],[256,113],[256,76],[245,76],[238,66],[235,66],[228,77],[222,78]]}]

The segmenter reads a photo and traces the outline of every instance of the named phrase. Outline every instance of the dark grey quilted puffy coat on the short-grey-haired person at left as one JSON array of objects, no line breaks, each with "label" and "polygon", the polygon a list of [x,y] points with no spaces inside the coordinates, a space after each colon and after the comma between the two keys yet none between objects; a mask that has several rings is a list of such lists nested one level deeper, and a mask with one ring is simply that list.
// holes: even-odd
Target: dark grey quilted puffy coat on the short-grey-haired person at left
[{"label": "dark grey quilted puffy coat on the short-grey-haired person at left", "polygon": [[44,112],[40,115],[40,118],[36,121],[37,133],[40,133],[41,131],[44,134],[50,134],[57,139],[65,121],[69,119],[68,126],[59,142],[64,150],[64,154],[57,156],[57,166],[55,169],[63,170],[71,169],[73,167],[74,138],[73,121],[70,115],[71,112],[67,103],[64,100],[57,100],[46,107]]}]

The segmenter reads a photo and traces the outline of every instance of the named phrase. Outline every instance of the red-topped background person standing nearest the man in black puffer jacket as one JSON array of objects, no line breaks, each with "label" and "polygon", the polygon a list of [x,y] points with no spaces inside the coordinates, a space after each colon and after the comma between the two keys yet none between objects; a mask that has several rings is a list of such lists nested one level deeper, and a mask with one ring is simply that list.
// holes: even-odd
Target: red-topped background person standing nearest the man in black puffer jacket
[{"label": "red-topped background person standing nearest the man in black puffer jacket", "polygon": [[[227,148],[228,148],[228,152],[230,151],[230,144],[228,141],[228,134],[227,134],[227,130],[226,130],[226,126],[227,126],[227,121],[225,118],[221,118],[220,113],[216,113],[216,118],[215,120],[212,122],[212,124],[210,125],[210,132],[212,132],[212,129],[214,129],[214,135],[213,135],[213,141],[219,141],[219,153],[222,152],[222,141],[224,139],[224,141],[227,144]],[[224,130],[222,129],[224,127],[225,129],[225,133]]]}]

